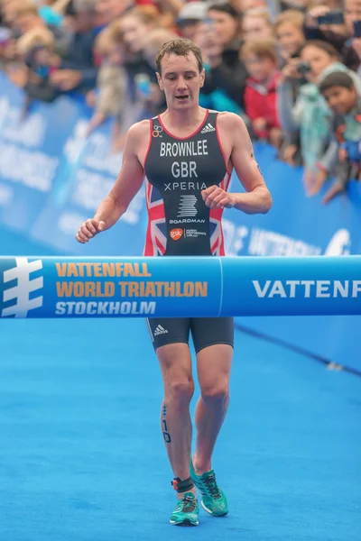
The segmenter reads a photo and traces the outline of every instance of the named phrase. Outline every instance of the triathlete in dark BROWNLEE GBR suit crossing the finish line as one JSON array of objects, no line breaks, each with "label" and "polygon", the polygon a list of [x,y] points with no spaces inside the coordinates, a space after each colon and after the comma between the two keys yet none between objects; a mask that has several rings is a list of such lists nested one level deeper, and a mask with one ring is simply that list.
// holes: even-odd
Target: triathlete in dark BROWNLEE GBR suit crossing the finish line
[{"label": "triathlete in dark BROWNLEE GBR suit crossing the finish line", "polygon": [[[199,106],[205,78],[199,47],[184,39],[168,41],[156,62],[167,109],[130,128],[116,184],[94,218],[80,226],[77,239],[87,243],[115,225],[146,177],[149,224],[144,255],[225,255],[223,209],[264,214],[272,206],[271,195],[243,120]],[[245,188],[242,193],[227,192],[233,169]],[[162,371],[162,434],[174,474],[171,484],[178,496],[171,524],[197,526],[196,487],[209,514],[220,517],[228,512],[211,458],[228,407],[233,318],[150,318],[147,323]],[[190,334],[200,389],[193,455]]]}]

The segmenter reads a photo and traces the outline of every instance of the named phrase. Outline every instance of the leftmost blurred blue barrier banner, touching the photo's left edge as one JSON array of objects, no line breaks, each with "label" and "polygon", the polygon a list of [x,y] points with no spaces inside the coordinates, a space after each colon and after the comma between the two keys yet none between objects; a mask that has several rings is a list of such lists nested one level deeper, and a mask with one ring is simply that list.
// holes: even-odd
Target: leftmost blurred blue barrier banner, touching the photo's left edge
[{"label": "leftmost blurred blue barrier banner, touching the photo's left edge", "polygon": [[29,234],[50,197],[76,107],[69,98],[34,102],[0,74],[0,222]]}]

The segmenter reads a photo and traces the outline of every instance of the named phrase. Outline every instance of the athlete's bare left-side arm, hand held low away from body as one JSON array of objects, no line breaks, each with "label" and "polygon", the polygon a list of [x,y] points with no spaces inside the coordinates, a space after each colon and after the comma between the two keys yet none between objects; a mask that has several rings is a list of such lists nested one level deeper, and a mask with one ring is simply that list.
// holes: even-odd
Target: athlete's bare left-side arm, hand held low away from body
[{"label": "athlete's bare left-side arm, hand held low away from body", "polygon": [[139,161],[139,149],[142,143],[147,144],[144,137],[149,137],[149,121],[134,124],[129,129],[125,139],[122,167],[116,183],[98,206],[94,218],[80,225],[76,235],[79,243],[88,243],[97,233],[115,225],[142,187],[144,170]]}]

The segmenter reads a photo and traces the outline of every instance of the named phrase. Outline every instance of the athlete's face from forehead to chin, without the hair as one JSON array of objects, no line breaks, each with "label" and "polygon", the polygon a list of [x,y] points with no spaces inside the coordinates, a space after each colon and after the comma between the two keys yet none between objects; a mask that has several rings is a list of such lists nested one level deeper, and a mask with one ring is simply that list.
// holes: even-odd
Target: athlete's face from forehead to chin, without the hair
[{"label": "athlete's face from forehead to chin, without the hair", "polygon": [[204,69],[193,52],[187,57],[170,54],[162,59],[162,74],[157,73],[158,83],[164,91],[168,107],[184,109],[198,105],[199,89],[204,84]]}]

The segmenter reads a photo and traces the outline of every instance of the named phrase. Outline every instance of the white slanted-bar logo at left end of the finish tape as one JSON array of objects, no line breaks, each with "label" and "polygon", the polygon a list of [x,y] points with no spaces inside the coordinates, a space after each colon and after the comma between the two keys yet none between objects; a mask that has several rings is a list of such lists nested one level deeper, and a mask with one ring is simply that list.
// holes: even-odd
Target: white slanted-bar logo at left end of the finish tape
[{"label": "white slanted-bar logo at left end of the finish tape", "polygon": [[43,288],[43,278],[32,278],[32,273],[41,269],[41,260],[29,262],[26,257],[17,257],[15,266],[4,271],[4,278],[0,279],[0,288],[3,289],[1,317],[27,317],[31,310],[42,307],[43,297],[37,292]]}]

